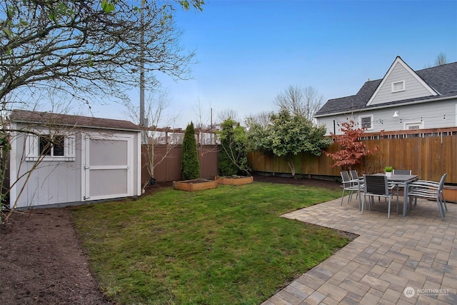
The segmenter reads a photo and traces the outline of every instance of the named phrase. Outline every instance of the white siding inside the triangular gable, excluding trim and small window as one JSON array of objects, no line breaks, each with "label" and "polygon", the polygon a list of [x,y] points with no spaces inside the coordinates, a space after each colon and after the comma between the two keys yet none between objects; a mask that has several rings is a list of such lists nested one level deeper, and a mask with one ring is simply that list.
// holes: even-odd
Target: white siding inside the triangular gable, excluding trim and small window
[{"label": "white siding inside the triangular gable, excluding trim and small window", "polygon": [[[397,81],[405,81],[405,91],[392,92],[391,85]],[[428,91],[418,79],[416,79],[402,64],[397,62],[396,65],[393,66],[391,74],[386,78],[386,81],[381,84],[381,88],[378,90],[376,96],[374,96],[373,101],[371,101],[371,105],[431,95],[430,91]]]}]

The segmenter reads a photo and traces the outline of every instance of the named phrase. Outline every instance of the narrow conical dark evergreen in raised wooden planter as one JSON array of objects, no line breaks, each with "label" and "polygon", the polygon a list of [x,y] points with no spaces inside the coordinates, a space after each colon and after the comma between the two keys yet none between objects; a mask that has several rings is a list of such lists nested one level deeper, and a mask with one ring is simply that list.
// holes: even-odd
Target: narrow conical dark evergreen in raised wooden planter
[{"label": "narrow conical dark evergreen in raised wooden planter", "polygon": [[183,159],[181,160],[181,176],[183,180],[200,178],[199,156],[195,139],[194,123],[187,125],[183,139]]}]

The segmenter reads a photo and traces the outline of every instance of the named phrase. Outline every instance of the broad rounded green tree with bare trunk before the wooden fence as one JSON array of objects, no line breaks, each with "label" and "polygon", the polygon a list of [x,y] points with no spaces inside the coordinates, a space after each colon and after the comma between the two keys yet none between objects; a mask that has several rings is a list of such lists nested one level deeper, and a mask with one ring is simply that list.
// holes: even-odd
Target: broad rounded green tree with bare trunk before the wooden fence
[{"label": "broad rounded green tree with bare trunk before the wooden fence", "polygon": [[282,109],[270,115],[270,124],[261,126],[256,120],[248,119],[249,148],[264,154],[284,156],[295,177],[293,156],[308,152],[315,156],[331,145],[331,139],[324,137],[325,126],[314,126],[304,115],[291,114]]}]

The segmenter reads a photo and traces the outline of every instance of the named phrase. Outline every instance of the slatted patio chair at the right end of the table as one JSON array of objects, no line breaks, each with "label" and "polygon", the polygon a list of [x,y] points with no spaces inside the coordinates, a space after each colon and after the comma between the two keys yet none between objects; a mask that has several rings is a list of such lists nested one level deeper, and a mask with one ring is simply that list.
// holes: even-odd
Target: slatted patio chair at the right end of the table
[{"label": "slatted patio chair at the right end of the table", "polygon": [[447,175],[447,173],[443,174],[439,182],[428,180],[411,182],[411,184],[408,185],[408,187],[411,188],[408,190],[409,205],[411,206],[413,199],[415,199],[414,205],[417,205],[418,198],[435,199],[438,204],[438,211],[440,212],[441,220],[444,220],[446,211],[448,211],[446,199],[444,199],[443,195],[443,186]]}]

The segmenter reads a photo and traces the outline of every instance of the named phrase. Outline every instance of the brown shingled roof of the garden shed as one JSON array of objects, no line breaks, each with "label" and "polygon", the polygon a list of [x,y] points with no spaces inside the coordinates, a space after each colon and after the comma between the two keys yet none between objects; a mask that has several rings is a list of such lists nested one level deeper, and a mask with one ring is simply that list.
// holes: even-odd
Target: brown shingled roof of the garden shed
[{"label": "brown shingled roof of the garden shed", "polygon": [[101,119],[92,116],[54,114],[51,112],[13,110],[11,111],[10,119],[14,122],[46,124],[46,126],[52,124],[54,126],[141,131],[141,126],[136,125],[131,121]]}]

